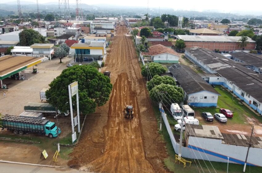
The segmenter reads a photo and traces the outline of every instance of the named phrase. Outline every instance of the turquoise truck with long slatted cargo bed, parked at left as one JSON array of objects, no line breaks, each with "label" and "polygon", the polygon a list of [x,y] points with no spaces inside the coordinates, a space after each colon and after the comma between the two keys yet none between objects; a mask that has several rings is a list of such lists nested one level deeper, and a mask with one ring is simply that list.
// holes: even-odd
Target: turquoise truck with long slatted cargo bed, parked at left
[{"label": "turquoise truck with long slatted cargo bed, parked at left", "polygon": [[61,133],[61,129],[54,122],[46,119],[5,115],[0,118],[0,125],[2,126],[2,130],[7,129],[19,135],[23,135],[24,133],[43,133],[45,136],[53,138]]}]

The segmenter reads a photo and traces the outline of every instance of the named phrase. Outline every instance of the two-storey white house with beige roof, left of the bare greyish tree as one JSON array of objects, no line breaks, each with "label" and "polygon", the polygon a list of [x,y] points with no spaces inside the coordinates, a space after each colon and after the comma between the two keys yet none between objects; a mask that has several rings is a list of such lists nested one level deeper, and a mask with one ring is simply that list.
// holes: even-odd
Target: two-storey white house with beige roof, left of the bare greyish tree
[{"label": "two-storey white house with beige roof, left of the bare greyish tree", "polygon": [[32,44],[30,48],[33,49],[33,57],[47,57],[51,59],[54,54],[54,44]]}]

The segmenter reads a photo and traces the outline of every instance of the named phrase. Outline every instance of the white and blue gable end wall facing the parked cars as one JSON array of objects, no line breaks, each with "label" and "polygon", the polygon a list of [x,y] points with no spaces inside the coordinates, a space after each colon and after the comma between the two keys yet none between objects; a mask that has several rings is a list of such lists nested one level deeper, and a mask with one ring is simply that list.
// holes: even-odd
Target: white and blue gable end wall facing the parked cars
[{"label": "white and blue gable end wall facing the parked cars", "polygon": [[[205,99],[206,97],[206,99]],[[195,107],[216,107],[218,95],[209,91],[201,91],[189,94],[187,103]]]}]

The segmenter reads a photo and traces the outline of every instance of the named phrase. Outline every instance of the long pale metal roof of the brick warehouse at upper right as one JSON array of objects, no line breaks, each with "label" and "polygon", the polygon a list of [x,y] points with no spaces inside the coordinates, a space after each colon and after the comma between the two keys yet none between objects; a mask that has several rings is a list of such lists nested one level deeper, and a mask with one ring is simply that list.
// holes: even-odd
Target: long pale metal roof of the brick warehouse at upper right
[{"label": "long pale metal roof of the brick warehouse at upper right", "polygon": [[[182,39],[184,41],[214,41],[214,42],[240,42],[239,39],[241,37],[237,36],[188,36],[188,35],[178,35],[175,36],[178,39]],[[248,42],[256,43],[256,41],[252,40],[248,37]]]}]

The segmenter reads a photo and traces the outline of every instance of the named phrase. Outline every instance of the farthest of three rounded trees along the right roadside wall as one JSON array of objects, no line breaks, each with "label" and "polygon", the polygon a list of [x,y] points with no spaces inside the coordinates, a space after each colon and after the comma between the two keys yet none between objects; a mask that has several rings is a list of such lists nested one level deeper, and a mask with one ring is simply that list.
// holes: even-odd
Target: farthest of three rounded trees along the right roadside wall
[{"label": "farthest of three rounded trees along the right roadside wall", "polygon": [[149,78],[153,78],[155,75],[161,75],[166,72],[166,69],[159,63],[151,62],[148,64],[148,69],[147,71],[147,64],[143,65],[141,68],[141,74],[144,77],[147,77],[147,73]]}]

